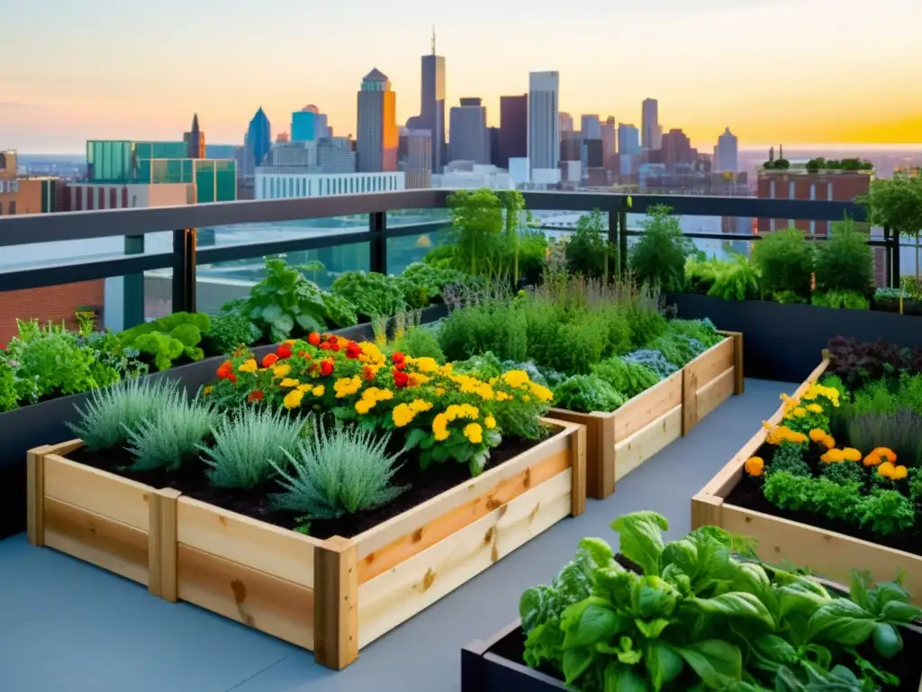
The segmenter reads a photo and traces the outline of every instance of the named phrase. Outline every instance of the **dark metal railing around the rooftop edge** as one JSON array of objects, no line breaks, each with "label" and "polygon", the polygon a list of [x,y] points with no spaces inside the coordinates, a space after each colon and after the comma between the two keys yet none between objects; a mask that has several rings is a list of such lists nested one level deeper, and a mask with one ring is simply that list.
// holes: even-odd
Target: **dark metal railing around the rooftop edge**
[{"label": "dark metal railing around the rooftop edge", "polygon": [[[432,233],[447,226],[444,221],[388,227],[387,212],[398,209],[444,209],[451,190],[407,190],[341,197],[303,197],[256,201],[219,202],[182,207],[109,209],[54,214],[0,217],[0,248],[61,241],[124,236],[122,257],[84,257],[44,262],[27,267],[0,269],[0,292],[53,286],[76,281],[125,277],[125,292],[143,295],[143,272],[172,269],[173,311],[195,311],[197,264],[213,264],[250,257],[368,243],[369,268],[387,273],[387,241]],[[865,211],[854,202],[761,199],[757,197],[700,197],[668,195],[620,195],[582,192],[524,192],[532,211],[592,211],[608,213],[609,239],[629,231],[627,213],[643,214],[656,205],[667,205],[680,216],[721,216],[798,221],[841,221],[846,215],[865,220]],[[629,205],[630,198],[630,207]],[[281,240],[198,247],[195,229],[246,223],[304,221],[368,215],[368,230],[327,233]],[[172,233],[171,252],[145,254],[145,236]],[[687,233],[691,238],[754,241],[756,234]],[[872,239],[870,245],[888,248],[887,280],[899,276],[899,242],[891,233]],[[2,250],[0,250],[2,253]],[[2,257],[2,255],[0,255]],[[894,274],[895,271],[895,274]]]}]

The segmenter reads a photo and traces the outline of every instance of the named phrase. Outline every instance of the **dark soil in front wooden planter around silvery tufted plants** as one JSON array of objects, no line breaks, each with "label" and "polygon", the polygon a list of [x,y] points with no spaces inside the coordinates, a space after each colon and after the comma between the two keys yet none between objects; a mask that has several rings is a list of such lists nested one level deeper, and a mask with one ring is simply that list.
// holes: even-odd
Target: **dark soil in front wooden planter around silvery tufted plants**
[{"label": "dark soil in front wooden planter around silvery tufted plants", "polygon": [[[520,438],[507,437],[500,447],[491,451],[490,461],[485,471],[494,469],[506,461],[513,459],[527,449],[534,447],[538,442]],[[175,488],[196,500],[207,502],[210,505],[228,509],[231,512],[246,515],[253,519],[266,521],[284,529],[294,529],[298,525],[297,519],[301,512],[276,511],[269,507],[267,496],[278,492],[277,483],[269,483],[265,487],[254,490],[230,490],[216,488],[208,483],[205,471],[207,465],[200,459],[189,459],[183,464],[180,471],[168,472],[162,469],[157,471],[128,471],[125,467],[133,459],[124,449],[108,449],[105,451],[91,452],[86,448],[78,449],[67,455],[77,463],[86,464],[100,471],[109,471],[116,475],[129,478],[138,483],[145,483],[154,488]],[[421,505],[435,495],[440,495],[446,490],[451,490],[456,485],[470,480],[470,471],[467,464],[445,462],[432,464],[426,471],[420,469],[418,460],[412,454],[396,472],[393,483],[395,485],[409,485],[410,488],[403,495],[389,505],[365,512],[346,515],[339,519],[312,520],[310,534],[314,538],[325,539],[330,536],[343,536],[352,538],[362,531],[368,531],[387,519],[396,517],[408,509]]]}]

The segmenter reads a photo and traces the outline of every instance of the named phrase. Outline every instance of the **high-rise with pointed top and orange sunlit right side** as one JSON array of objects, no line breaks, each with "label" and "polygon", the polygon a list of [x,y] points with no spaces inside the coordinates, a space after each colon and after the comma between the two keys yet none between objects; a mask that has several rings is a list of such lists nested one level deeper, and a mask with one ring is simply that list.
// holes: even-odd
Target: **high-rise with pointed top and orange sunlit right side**
[{"label": "high-rise with pointed top and orange sunlit right side", "polygon": [[360,173],[397,170],[396,102],[391,80],[376,67],[361,80],[357,148]]}]

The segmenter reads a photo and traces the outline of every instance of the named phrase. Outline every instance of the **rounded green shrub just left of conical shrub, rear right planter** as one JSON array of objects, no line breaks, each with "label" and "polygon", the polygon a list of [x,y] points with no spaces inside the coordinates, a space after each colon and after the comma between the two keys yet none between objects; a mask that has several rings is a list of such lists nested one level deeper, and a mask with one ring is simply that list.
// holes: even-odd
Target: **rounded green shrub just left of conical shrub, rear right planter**
[{"label": "rounded green shrub just left of conical shrub, rear right planter", "polygon": [[762,290],[769,294],[793,292],[801,299],[810,296],[813,248],[796,228],[764,236],[752,248],[752,262],[762,275]]}]

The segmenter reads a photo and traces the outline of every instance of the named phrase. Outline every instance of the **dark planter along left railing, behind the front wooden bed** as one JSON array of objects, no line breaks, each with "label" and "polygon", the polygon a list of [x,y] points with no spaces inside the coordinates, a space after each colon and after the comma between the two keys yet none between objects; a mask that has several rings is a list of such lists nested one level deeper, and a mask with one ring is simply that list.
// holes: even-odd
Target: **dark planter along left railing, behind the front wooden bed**
[{"label": "dark planter along left railing, behind the front wooden bed", "polygon": [[[421,321],[434,322],[446,314],[444,305],[431,305],[422,311]],[[368,323],[337,329],[335,333],[353,340],[368,340],[373,336],[372,325]],[[253,352],[262,358],[277,347],[278,344],[259,346]],[[186,391],[195,393],[215,378],[223,361],[224,356],[205,358],[148,377],[178,379]],[[26,452],[74,437],[67,423],[77,418],[75,404],[82,408],[89,396],[89,392],[84,392],[0,413],[0,539],[26,529]]]}]

